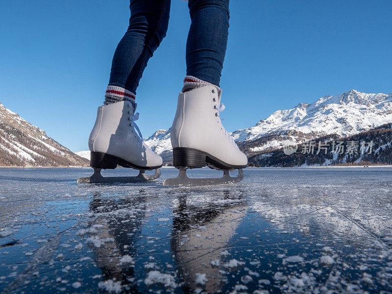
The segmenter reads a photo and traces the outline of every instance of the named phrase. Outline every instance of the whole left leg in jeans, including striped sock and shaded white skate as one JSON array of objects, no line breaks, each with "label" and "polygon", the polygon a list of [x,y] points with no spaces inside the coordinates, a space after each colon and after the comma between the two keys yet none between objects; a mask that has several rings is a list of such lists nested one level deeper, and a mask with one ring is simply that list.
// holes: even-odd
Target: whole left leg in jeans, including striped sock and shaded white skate
[{"label": "whole left leg in jeans, including striped sock and shaded white skate", "polygon": [[[148,59],[166,35],[170,0],[130,0],[129,27],[113,56],[109,85],[104,105],[98,107],[97,119],[90,133],[90,166],[95,169],[88,178],[78,182],[112,183],[118,178],[103,178],[101,169],[119,165],[137,170],[152,170],[162,166],[162,157],[143,142],[135,121],[135,92]],[[159,177],[143,175],[126,177],[121,181],[145,181]],[[143,178],[143,179],[142,179]]]}]

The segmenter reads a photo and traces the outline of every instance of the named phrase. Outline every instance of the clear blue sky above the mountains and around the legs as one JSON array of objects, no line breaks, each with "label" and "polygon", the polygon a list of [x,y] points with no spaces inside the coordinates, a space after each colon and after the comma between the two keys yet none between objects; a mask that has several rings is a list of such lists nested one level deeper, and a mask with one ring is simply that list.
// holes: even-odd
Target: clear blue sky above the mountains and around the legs
[{"label": "clear blue sky above the mountains and around the legs", "polygon": [[[127,0],[6,1],[0,101],[73,151],[86,150]],[[221,78],[227,130],[350,89],[392,92],[392,1],[231,0]],[[169,128],[185,75],[187,3],[172,0],[166,39],[137,92],[143,136]]]}]

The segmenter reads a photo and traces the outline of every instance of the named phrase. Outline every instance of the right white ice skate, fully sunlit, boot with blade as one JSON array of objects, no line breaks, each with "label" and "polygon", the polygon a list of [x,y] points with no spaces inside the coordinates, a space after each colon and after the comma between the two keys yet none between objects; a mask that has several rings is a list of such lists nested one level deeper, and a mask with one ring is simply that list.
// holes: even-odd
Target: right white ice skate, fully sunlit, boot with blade
[{"label": "right white ice skate, fully sunlit, boot with blade", "polygon": [[[244,178],[247,158],[224,129],[220,112],[221,90],[213,85],[180,93],[172,131],[173,165],[180,170],[177,178],[166,179],[164,186],[203,186],[239,182]],[[224,170],[222,178],[188,178],[186,169],[208,166]],[[229,170],[238,169],[231,177]]]}]

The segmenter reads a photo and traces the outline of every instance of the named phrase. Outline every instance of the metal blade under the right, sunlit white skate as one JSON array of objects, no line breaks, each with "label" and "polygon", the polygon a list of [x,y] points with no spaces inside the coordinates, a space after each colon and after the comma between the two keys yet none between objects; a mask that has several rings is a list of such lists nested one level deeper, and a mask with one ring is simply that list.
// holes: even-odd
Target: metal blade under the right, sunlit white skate
[{"label": "metal blade under the right, sunlit white skate", "polygon": [[228,170],[224,170],[221,178],[189,178],[185,168],[180,168],[180,174],[176,178],[166,179],[163,181],[164,186],[170,187],[191,187],[191,186],[215,186],[240,182],[244,179],[244,172],[239,169],[239,174],[232,177]]}]

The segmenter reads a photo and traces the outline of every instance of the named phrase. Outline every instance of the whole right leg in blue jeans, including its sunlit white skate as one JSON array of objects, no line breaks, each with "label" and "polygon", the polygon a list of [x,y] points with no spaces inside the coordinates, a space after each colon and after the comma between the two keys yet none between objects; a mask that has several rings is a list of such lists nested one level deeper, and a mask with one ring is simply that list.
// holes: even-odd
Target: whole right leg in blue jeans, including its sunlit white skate
[{"label": "whole right leg in blue jeans, including its sunlit white skate", "polygon": [[[191,28],[187,41],[187,76],[178,95],[170,131],[173,166],[180,170],[164,186],[203,186],[239,182],[247,166],[241,152],[222,125],[219,86],[227,46],[229,0],[189,0]],[[187,169],[208,166],[224,170],[222,178],[192,179]],[[237,177],[229,170],[238,169]]]}]

